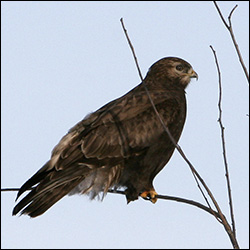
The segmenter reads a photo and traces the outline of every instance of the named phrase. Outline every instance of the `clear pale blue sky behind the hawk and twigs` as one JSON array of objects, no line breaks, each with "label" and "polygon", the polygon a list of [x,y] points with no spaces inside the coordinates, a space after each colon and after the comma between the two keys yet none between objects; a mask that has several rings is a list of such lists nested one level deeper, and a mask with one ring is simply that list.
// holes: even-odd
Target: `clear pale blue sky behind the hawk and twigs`
[{"label": "clear pale blue sky behind the hawk and twigs", "polygon": [[[249,67],[249,2],[218,2],[232,22]],[[20,187],[50,157],[60,138],[87,113],[140,80],[160,58],[187,60],[199,74],[187,89],[188,115],[179,144],[228,221],[218,119],[218,77],[237,238],[249,247],[249,86],[230,35],[209,2],[1,2],[2,187]],[[157,175],[159,194],[204,203],[178,152]],[[122,195],[103,202],[66,196],[44,215],[13,217],[16,192],[2,193],[2,248],[232,248],[214,217],[189,205]]]}]

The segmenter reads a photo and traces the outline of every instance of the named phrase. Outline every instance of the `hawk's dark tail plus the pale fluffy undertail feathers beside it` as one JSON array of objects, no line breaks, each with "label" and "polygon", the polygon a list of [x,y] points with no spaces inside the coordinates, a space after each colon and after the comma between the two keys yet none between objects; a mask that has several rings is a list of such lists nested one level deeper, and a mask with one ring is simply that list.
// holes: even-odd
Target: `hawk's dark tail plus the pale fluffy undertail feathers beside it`
[{"label": "hawk's dark tail plus the pale fluffy undertail feathers beside it", "polygon": [[121,165],[94,168],[78,163],[56,169],[49,161],[20,188],[17,199],[25,191],[30,192],[14,207],[12,214],[39,216],[67,194],[86,194],[94,199],[102,193],[103,199],[108,189],[118,182],[121,171]]}]

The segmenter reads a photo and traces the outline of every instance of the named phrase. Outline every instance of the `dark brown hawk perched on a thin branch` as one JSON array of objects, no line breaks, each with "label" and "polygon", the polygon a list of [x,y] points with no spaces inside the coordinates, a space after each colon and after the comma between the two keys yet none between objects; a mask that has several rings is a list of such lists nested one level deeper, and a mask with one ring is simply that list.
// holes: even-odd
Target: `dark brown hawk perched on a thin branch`
[{"label": "dark brown hawk perched on a thin branch", "polygon": [[[185,118],[185,88],[198,79],[191,65],[177,57],[155,62],[143,82],[120,98],[87,115],[62,137],[50,160],[19,189],[29,193],[15,206],[17,213],[36,217],[65,195],[103,198],[124,190],[127,202],[139,196],[157,200],[155,176],[172,156]],[[148,93],[146,91],[146,88]]]}]

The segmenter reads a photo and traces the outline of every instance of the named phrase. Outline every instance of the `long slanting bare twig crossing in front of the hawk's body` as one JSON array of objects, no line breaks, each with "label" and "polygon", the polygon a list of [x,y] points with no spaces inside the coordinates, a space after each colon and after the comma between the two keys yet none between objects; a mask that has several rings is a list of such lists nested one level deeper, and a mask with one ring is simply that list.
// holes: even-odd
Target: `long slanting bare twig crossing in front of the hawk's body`
[{"label": "long slanting bare twig crossing in front of the hawk's body", "polygon": [[[231,230],[231,227],[230,227],[230,225],[228,224],[226,217],[225,217],[225,216],[223,215],[223,213],[221,212],[221,209],[220,209],[220,207],[219,207],[217,201],[215,200],[214,196],[212,195],[210,189],[208,188],[208,186],[206,185],[206,183],[204,182],[204,180],[201,178],[201,176],[198,174],[198,172],[195,170],[195,168],[194,168],[194,166],[191,164],[191,162],[187,159],[187,157],[185,156],[185,154],[184,154],[184,152],[182,151],[181,147],[176,143],[176,141],[174,140],[173,136],[171,135],[171,133],[170,133],[168,127],[165,126],[163,120],[161,119],[161,117],[160,117],[160,115],[159,115],[159,113],[158,113],[158,111],[157,111],[157,109],[156,109],[156,107],[155,107],[155,105],[154,105],[154,103],[153,103],[153,101],[152,101],[152,99],[151,99],[151,96],[150,96],[150,94],[149,94],[149,92],[148,92],[148,90],[147,90],[147,87],[146,87],[146,85],[144,84],[144,81],[143,81],[143,78],[142,78],[142,75],[141,75],[141,71],[140,71],[140,68],[139,68],[139,65],[138,65],[138,62],[137,62],[137,58],[136,58],[136,56],[135,56],[134,48],[133,48],[132,43],[131,43],[131,41],[130,41],[130,39],[129,39],[129,36],[128,36],[128,34],[127,34],[127,30],[126,30],[126,28],[125,28],[125,26],[124,26],[123,19],[121,18],[120,21],[121,21],[121,24],[122,24],[124,33],[125,33],[125,35],[126,35],[126,38],[127,38],[127,40],[128,40],[129,46],[130,46],[130,48],[131,48],[131,51],[132,51],[132,53],[133,53],[133,56],[134,56],[134,59],[135,59],[135,63],[136,63],[136,66],[137,66],[137,69],[138,69],[138,72],[139,72],[139,75],[140,75],[140,78],[141,78],[141,80],[142,80],[142,83],[143,83],[143,85],[144,85],[144,88],[145,88],[145,90],[146,90],[146,93],[147,93],[147,95],[148,95],[148,97],[149,97],[149,100],[150,100],[150,102],[151,102],[151,104],[152,104],[152,107],[153,107],[153,109],[154,109],[154,111],[155,111],[157,117],[159,118],[159,121],[161,122],[161,124],[162,124],[162,126],[163,126],[165,132],[168,134],[170,140],[171,140],[172,143],[175,145],[175,147],[176,147],[176,149],[178,150],[178,152],[181,154],[181,156],[183,157],[183,159],[184,159],[184,160],[187,162],[187,164],[189,165],[189,167],[190,167],[190,169],[191,169],[193,175],[196,176],[196,177],[199,179],[199,181],[202,183],[203,187],[206,189],[206,191],[207,191],[208,195],[210,196],[211,200],[213,201],[213,204],[214,204],[214,206],[216,207],[216,209],[217,209],[217,211],[218,211],[218,213],[219,213],[219,215],[220,215],[221,221],[219,221],[219,220],[217,219],[217,216],[214,214],[215,218],[216,218],[219,222],[221,222],[221,223],[223,224],[223,226],[224,226],[226,232],[227,232],[228,235],[229,235],[229,238],[230,238],[230,240],[231,240],[231,242],[232,242],[234,248],[239,248],[239,245],[238,245],[238,243],[237,243],[237,241],[236,241],[236,238],[235,238],[234,235],[233,235],[233,232],[232,232],[232,230]],[[196,177],[195,177],[195,180],[196,180],[196,182],[197,182]],[[197,182],[197,183],[198,183],[198,182]],[[199,187],[199,189],[201,190],[201,188],[200,188],[199,185],[198,185],[198,187]],[[209,205],[209,203],[208,203],[208,200],[207,200],[207,198],[205,197],[205,195],[204,195],[204,193],[203,193],[202,190],[201,190],[201,193],[202,193],[203,197],[205,198],[205,200],[206,200],[208,206],[210,207],[210,205]],[[213,211],[213,210],[212,210],[212,211]]]}]

